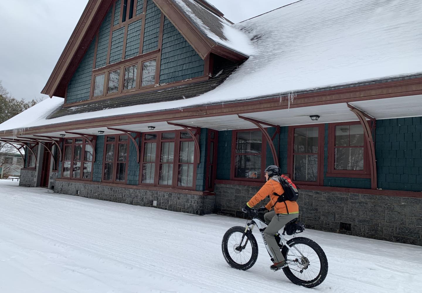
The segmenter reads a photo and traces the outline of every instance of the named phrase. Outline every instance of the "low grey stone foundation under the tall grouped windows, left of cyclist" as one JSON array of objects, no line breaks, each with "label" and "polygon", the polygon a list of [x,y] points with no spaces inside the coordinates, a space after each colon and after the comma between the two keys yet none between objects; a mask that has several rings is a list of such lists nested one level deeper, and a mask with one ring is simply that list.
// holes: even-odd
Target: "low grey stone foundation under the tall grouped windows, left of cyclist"
[{"label": "low grey stone foundation under the tall grouped windows, left of cyclist", "polygon": [[192,195],[155,190],[142,190],[130,187],[115,187],[86,182],[65,182],[56,180],[54,193],[78,195],[85,198],[100,199],[138,206],[153,206],[173,212],[189,214],[212,214],[214,212],[214,195]]}]

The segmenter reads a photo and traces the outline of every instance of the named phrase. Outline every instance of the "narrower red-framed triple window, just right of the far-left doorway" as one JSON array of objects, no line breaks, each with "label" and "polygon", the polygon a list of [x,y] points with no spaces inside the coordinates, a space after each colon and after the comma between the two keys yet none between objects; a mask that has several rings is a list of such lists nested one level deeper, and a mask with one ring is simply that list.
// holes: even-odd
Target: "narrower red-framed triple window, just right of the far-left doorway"
[{"label": "narrower red-framed triple window, just right of the far-left doorway", "polygon": [[92,146],[85,138],[66,138],[62,177],[91,179],[93,160]]}]

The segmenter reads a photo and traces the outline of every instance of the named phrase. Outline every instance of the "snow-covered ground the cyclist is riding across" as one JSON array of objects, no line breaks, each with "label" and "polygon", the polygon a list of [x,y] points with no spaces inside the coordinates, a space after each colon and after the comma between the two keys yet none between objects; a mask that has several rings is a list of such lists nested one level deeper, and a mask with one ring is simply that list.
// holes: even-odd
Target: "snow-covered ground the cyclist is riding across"
[{"label": "snow-covered ground the cyclist is riding across", "polygon": [[245,221],[195,216],[19,187],[0,180],[0,292],[421,292],[422,247],[306,230],[327,254],[315,289],[293,285],[260,254],[230,268],[225,231]]}]

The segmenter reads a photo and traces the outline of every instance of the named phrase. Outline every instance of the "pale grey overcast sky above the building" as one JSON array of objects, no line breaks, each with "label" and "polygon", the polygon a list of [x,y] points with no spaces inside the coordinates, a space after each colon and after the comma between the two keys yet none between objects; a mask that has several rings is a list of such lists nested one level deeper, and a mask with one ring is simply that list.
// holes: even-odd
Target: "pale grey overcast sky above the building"
[{"label": "pale grey overcast sky above the building", "polygon": [[[296,0],[208,0],[241,22]],[[41,90],[88,0],[0,1],[0,80],[15,98],[47,97]]]}]

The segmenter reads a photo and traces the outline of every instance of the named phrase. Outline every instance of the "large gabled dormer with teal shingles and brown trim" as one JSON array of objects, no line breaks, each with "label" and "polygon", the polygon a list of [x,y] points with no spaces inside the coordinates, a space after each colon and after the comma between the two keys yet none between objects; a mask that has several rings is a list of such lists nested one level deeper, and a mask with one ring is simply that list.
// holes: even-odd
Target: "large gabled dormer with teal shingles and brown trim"
[{"label": "large gabled dormer with teal shingles and brown trim", "polygon": [[231,24],[204,0],[89,0],[42,93],[79,104],[207,80],[248,58]]}]

